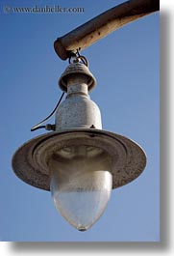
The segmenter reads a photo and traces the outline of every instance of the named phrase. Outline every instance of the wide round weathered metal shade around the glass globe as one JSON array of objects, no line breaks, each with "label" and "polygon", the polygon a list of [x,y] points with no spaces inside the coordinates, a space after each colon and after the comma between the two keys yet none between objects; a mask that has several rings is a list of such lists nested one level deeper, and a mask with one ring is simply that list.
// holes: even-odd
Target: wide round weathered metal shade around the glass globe
[{"label": "wide round weathered metal shade around the glass globe", "polygon": [[50,190],[50,158],[73,145],[98,147],[112,157],[112,188],[135,180],[146,165],[146,156],[134,141],[109,131],[82,128],[54,131],[28,141],[12,157],[14,173],[29,185]]}]

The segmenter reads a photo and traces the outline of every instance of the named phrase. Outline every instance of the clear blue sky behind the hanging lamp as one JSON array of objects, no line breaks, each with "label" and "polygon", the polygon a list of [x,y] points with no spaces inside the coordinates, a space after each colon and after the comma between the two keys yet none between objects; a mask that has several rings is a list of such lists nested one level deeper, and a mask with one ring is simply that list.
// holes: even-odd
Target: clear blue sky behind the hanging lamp
[{"label": "clear blue sky behind the hanging lamp", "polygon": [[[136,141],[146,152],[144,172],[112,190],[103,216],[87,232],[72,228],[51,194],[26,185],[12,172],[12,154],[44,133],[30,128],[61,96],[67,66],[54,51],[56,38],[124,1],[5,1],[0,3],[1,168],[0,241],[156,242],[160,240],[159,14],[115,31],[82,52],[97,79],[90,94],[103,128]],[[83,7],[83,14],[7,14],[12,7]],[[12,10],[12,9],[6,10]],[[52,119],[53,122],[54,119]]]}]

